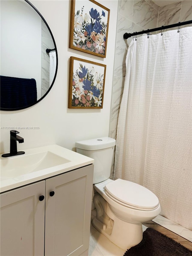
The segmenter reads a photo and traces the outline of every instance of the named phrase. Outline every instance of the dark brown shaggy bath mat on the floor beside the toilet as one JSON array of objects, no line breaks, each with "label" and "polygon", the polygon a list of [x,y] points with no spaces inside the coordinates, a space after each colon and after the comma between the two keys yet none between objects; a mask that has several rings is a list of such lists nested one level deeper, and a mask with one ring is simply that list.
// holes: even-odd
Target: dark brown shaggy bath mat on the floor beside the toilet
[{"label": "dark brown shaggy bath mat on the floor beside the toilet", "polygon": [[123,256],[192,256],[192,251],[157,230],[147,228],[143,240]]}]

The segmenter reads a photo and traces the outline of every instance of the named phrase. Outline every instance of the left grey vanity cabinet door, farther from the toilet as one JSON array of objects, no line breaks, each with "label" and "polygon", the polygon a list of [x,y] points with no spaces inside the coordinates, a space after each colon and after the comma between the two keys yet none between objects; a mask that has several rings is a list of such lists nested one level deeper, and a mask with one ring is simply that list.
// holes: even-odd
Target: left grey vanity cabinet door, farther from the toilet
[{"label": "left grey vanity cabinet door, farther from the toilet", "polygon": [[44,255],[45,181],[1,194],[1,255]]}]

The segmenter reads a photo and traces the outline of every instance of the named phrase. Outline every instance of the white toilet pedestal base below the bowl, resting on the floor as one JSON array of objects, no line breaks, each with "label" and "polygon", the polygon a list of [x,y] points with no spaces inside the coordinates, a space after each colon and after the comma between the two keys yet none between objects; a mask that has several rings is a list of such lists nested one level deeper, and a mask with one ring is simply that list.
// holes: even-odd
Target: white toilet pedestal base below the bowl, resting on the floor
[{"label": "white toilet pedestal base below the bowl, resting on the floor", "polygon": [[94,195],[93,202],[97,215],[93,219],[92,225],[111,242],[126,251],[142,241],[141,223],[129,223],[117,218],[99,193]]}]

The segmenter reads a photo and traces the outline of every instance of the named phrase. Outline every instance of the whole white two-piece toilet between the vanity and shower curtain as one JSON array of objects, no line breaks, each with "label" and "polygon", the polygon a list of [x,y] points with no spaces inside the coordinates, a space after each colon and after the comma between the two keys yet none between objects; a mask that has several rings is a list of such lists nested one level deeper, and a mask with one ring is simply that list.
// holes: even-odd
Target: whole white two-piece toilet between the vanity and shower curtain
[{"label": "whole white two-piece toilet between the vanity and shower curtain", "polygon": [[161,212],[159,200],[149,189],[127,180],[109,179],[116,140],[101,137],[75,143],[76,152],[95,160],[93,197],[96,217],[92,225],[126,251],[143,239],[142,223]]}]

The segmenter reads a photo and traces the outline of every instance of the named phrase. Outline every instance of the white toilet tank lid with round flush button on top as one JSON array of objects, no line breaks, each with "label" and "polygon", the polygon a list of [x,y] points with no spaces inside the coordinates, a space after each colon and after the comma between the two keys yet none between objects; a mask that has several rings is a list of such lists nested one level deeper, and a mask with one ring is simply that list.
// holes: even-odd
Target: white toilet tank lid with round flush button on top
[{"label": "white toilet tank lid with round flush button on top", "polygon": [[106,149],[115,146],[116,140],[110,137],[99,137],[91,140],[82,140],[75,143],[75,147],[85,150]]}]

